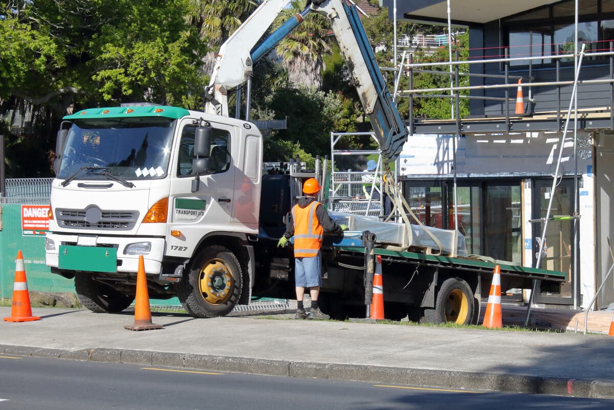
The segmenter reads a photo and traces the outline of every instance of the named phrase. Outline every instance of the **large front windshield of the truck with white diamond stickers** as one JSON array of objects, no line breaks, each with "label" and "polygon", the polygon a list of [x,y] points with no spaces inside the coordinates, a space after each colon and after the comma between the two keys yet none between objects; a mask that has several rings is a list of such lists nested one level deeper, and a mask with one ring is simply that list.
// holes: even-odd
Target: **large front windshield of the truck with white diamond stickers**
[{"label": "large front windshield of the truck with white diamond stickers", "polygon": [[58,178],[84,167],[107,173],[84,172],[79,179],[123,180],[163,178],[168,170],[176,120],[163,117],[77,120],[68,133]]}]

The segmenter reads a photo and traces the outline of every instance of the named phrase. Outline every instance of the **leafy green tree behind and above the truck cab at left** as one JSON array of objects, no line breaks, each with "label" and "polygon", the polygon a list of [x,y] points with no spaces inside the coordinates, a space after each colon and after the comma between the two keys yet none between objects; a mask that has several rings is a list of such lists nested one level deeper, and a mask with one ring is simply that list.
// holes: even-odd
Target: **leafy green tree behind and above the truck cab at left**
[{"label": "leafy green tree behind and above the truck cab at left", "polygon": [[39,139],[34,155],[52,149],[72,108],[200,104],[207,48],[185,20],[189,0],[14,0],[1,7],[0,116],[32,113],[34,129],[21,132]]}]

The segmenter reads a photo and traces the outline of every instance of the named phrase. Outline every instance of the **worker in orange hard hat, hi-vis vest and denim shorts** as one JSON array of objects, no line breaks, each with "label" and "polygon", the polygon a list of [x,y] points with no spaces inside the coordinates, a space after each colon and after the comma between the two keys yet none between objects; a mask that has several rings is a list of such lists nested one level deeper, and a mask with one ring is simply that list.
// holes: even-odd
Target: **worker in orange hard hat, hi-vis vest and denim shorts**
[{"label": "worker in orange hard hat, hi-vis vest and denim shorts", "polygon": [[[294,237],[295,287],[297,292],[297,313],[295,319],[329,319],[318,304],[317,297],[322,285],[322,238],[324,232],[340,235],[348,229],[346,225],[338,225],[333,221],[322,203],[317,202],[317,192],[320,184],[315,178],[309,178],[303,184],[305,197],[298,200],[292,207],[292,221],[288,224],[284,235],[277,246],[286,246],[288,240]],[[309,288],[311,309],[306,313],[303,306],[303,294]]]}]

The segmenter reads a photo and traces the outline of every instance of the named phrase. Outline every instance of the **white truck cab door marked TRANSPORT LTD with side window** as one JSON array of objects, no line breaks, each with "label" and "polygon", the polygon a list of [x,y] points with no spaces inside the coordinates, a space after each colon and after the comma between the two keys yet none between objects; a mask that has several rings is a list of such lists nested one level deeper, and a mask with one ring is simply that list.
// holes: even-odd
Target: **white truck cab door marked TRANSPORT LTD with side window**
[{"label": "white truck cab door marked TRANSPORT LTD with side window", "polygon": [[[167,254],[176,254],[174,247],[180,251],[192,252],[200,238],[208,232],[230,230],[230,218],[233,212],[235,195],[235,165],[233,150],[236,132],[227,124],[212,123],[211,156],[209,157],[209,172],[200,176],[198,191],[192,192],[192,172],[194,159],[194,136],[196,125],[192,119],[184,119],[179,124],[179,141],[175,143],[174,167],[171,172],[171,188],[169,195],[168,238],[184,241],[182,245],[173,245],[169,241]],[[181,237],[173,237],[171,230],[179,230]],[[184,256],[183,252],[176,254]]]}]

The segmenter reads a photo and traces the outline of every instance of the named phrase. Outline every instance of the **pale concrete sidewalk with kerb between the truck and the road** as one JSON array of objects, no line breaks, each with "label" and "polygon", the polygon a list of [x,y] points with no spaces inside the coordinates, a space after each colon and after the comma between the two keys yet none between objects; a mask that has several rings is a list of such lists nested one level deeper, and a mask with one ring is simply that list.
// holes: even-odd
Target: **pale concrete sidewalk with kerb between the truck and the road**
[{"label": "pale concrete sidewalk with kerb between the truck and the road", "polygon": [[614,398],[612,336],[294,321],[289,313],[154,313],[163,329],[131,332],[123,328],[131,312],[33,313],[42,320],[0,322],[0,354]]}]

